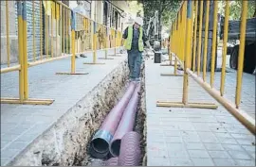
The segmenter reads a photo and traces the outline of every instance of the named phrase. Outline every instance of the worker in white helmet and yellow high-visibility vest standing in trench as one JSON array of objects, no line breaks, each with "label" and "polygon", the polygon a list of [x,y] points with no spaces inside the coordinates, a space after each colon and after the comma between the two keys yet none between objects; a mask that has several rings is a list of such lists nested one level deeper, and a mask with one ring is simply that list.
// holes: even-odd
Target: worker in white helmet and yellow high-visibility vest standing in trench
[{"label": "worker in white helmet and yellow high-visibility vest standing in trench", "polygon": [[152,50],[142,25],[142,18],[137,17],[134,25],[126,27],[122,35],[122,45],[124,45],[128,53],[128,66],[131,81],[140,81],[140,66],[144,45],[146,44]]}]

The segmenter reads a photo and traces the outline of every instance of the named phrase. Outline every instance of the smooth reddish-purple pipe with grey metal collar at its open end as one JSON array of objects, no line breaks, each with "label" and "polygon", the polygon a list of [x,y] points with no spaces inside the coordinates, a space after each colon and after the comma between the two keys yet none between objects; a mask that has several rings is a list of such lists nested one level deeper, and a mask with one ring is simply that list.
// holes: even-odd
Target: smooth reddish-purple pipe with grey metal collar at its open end
[{"label": "smooth reddish-purple pipe with grey metal collar at its open end", "polygon": [[119,100],[119,103],[111,109],[107,117],[104,119],[100,129],[96,132],[90,143],[91,156],[97,159],[103,159],[108,155],[109,143],[118,128],[123,111],[127,107],[133,92],[135,91],[136,85],[137,84],[135,82],[130,82],[129,87]]}]

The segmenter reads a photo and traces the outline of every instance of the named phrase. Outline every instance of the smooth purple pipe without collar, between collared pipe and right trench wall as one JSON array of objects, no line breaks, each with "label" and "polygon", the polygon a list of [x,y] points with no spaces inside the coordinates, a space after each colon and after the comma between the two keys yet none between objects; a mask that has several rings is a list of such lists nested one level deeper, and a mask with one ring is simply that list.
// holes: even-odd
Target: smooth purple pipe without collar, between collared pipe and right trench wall
[{"label": "smooth purple pipe without collar, between collared pipe and right trench wall", "polygon": [[137,84],[137,88],[130,99],[129,104],[123,112],[119,127],[115,132],[115,135],[110,142],[109,151],[113,157],[119,156],[120,140],[128,132],[133,131],[137,113],[138,92],[140,90],[140,83]]}]

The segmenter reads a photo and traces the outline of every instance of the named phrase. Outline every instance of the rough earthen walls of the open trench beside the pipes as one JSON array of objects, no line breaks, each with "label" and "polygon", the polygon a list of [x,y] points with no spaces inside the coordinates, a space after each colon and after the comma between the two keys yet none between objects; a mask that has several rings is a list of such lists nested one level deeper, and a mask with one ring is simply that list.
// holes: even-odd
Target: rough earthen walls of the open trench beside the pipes
[{"label": "rough earthen walls of the open trench beside the pipes", "polygon": [[[145,76],[141,66],[140,92],[134,131],[140,134],[139,165],[146,166]],[[128,86],[128,65],[123,61],[91,92],[8,165],[19,166],[102,166],[102,159],[90,156],[90,141],[108,112],[119,102]],[[105,159],[104,159],[105,160]]]}]

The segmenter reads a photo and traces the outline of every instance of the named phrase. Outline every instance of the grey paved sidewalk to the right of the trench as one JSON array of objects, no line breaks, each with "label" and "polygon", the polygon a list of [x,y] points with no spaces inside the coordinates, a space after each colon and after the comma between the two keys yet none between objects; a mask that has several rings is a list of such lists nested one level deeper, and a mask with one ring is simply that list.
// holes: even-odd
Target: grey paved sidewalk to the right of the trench
[{"label": "grey paved sidewalk to the right of the trench", "polygon": [[[172,67],[146,61],[147,163],[149,166],[255,166],[255,137],[229,111],[218,109],[157,108],[157,100],[181,101],[182,77],[160,76],[172,73]],[[232,78],[233,76],[229,76]],[[217,76],[216,76],[217,78]],[[248,77],[251,78],[251,77]],[[244,85],[250,90],[250,79]],[[235,90],[227,79],[227,92]],[[190,102],[217,102],[195,81],[189,81]],[[216,82],[217,84],[217,82]],[[244,87],[243,87],[244,88]],[[245,91],[243,91],[245,92]],[[242,100],[255,99],[246,91]],[[254,103],[255,105],[255,103]],[[254,109],[254,111],[253,111]],[[252,112],[255,112],[253,108]]]}]

